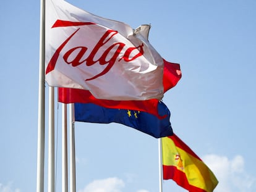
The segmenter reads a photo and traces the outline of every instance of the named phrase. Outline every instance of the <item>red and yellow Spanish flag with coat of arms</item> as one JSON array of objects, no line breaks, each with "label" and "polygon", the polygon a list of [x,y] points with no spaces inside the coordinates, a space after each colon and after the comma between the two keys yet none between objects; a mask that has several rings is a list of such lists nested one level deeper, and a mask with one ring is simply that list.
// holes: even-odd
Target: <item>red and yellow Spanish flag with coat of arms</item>
[{"label": "red and yellow Spanish flag with coat of arms", "polygon": [[218,180],[207,165],[177,135],[162,139],[163,179],[190,192],[212,192]]}]

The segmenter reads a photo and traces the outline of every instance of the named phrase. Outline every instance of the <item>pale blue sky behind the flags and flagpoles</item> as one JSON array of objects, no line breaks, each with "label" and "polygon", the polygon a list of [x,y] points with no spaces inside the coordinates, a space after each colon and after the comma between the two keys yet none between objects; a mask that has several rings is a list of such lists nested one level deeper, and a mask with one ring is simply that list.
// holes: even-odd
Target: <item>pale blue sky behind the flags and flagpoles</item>
[{"label": "pale blue sky behind the flags and flagpoles", "polygon": [[[216,192],[256,191],[256,2],[68,2],[133,28],[151,23],[150,43],[181,64],[181,80],[163,98],[174,132],[213,170]],[[30,192],[36,189],[40,1],[2,2],[0,23],[0,192]],[[56,133],[61,191],[61,105]],[[158,191],[158,140],[116,123],[75,123],[75,134],[77,191]],[[46,159],[47,136],[46,127]],[[45,175],[47,167],[46,161]],[[185,191],[171,180],[163,190]]]}]

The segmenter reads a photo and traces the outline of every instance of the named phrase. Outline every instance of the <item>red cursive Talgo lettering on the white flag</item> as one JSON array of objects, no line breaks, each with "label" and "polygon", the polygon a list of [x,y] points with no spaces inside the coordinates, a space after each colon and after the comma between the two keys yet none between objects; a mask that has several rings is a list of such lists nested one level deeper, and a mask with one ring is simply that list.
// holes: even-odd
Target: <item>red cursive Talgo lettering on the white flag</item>
[{"label": "red cursive Talgo lettering on the white flag", "polygon": [[[56,20],[52,28],[74,27],[82,25],[96,25],[96,23],[69,22],[64,20]],[[61,51],[64,49],[67,43],[69,43],[69,41],[75,39],[75,35],[79,30],[80,28],[77,28],[77,30],[75,30],[74,33],[72,33],[69,37],[67,37],[67,39],[64,40],[63,43],[56,49],[53,56],[51,57],[51,60],[48,63],[48,66],[46,68],[46,74],[54,70],[54,67],[56,65],[56,62],[58,61]],[[103,69],[100,73],[85,80],[89,81],[108,73],[108,71],[111,69],[111,67],[113,67],[113,65],[117,61],[124,60],[126,62],[130,62],[136,59],[137,57],[143,55],[143,43],[137,47],[127,47],[125,43],[116,42],[116,40],[113,40],[114,36],[117,34],[117,31],[106,30],[106,32],[100,37],[100,40],[98,40],[94,47],[90,47],[90,52],[88,52],[89,48],[87,45],[74,46],[72,48],[69,48],[68,51],[62,53],[62,58],[64,62],[66,62],[66,64],[72,65],[72,67],[77,67],[81,64],[85,64],[88,67],[90,67],[96,64],[97,62],[100,65],[106,65],[105,69]],[[113,43],[111,43],[111,41],[113,41]],[[110,46],[106,47],[107,43],[108,45],[110,44]],[[85,57],[85,54],[88,56]],[[95,59],[95,55],[97,55],[98,59]]]}]

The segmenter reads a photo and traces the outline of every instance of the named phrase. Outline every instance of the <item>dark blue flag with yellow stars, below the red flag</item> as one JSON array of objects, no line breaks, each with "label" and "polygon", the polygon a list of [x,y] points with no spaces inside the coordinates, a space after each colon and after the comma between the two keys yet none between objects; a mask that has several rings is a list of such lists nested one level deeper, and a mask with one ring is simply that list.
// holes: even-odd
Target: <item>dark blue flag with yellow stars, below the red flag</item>
[{"label": "dark blue flag with yellow stars, below the red flag", "polygon": [[173,135],[169,122],[171,113],[163,102],[158,103],[158,117],[142,111],[110,109],[96,104],[75,103],[75,121],[91,123],[121,123],[155,138]]}]

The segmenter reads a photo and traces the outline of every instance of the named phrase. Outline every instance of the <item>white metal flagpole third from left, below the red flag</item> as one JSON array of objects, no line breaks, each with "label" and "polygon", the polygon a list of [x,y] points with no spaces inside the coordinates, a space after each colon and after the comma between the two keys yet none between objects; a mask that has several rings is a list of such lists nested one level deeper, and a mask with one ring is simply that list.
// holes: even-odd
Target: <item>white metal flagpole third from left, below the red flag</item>
[{"label": "white metal flagpole third from left, below the red flag", "polygon": [[62,192],[67,192],[67,104],[62,103]]}]

